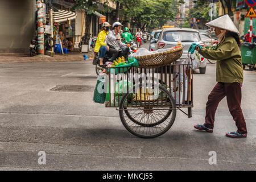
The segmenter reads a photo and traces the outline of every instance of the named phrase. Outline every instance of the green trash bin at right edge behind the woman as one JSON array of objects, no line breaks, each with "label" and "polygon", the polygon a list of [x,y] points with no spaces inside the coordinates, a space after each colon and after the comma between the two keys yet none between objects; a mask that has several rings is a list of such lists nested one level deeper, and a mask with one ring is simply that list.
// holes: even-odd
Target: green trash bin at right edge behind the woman
[{"label": "green trash bin at right edge behind the woman", "polygon": [[256,64],[255,43],[243,42],[241,46],[242,64]]}]

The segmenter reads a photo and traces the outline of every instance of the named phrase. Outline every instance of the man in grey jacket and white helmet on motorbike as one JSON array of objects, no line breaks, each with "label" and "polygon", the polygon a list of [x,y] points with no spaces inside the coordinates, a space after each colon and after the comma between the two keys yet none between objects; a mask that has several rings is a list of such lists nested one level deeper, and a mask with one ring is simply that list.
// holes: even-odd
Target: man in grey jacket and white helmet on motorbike
[{"label": "man in grey jacket and white helmet on motorbike", "polygon": [[126,57],[129,51],[128,47],[125,43],[122,43],[121,36],[119,32],[122,28],[122,24],[120,22],[115,22],[112,25],[113,30],[109,31],[109,34],[106,38],[106,43],[109,45],[109,54],[112,55],[112,62],[117,58],[118,51],[122,49],[122,56]]}]

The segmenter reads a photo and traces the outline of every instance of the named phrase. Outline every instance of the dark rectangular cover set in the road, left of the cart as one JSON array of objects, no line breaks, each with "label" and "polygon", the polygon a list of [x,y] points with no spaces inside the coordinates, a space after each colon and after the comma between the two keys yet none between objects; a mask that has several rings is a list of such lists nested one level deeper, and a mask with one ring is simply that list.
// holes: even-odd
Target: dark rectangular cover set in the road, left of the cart
[{"label": "dark rectangular cover set in the road, left of the cart", "polygon": [[55,88],[51,89],[52,91],[60,92],[92,92],[94,86],[91,85],[56,85]]}]

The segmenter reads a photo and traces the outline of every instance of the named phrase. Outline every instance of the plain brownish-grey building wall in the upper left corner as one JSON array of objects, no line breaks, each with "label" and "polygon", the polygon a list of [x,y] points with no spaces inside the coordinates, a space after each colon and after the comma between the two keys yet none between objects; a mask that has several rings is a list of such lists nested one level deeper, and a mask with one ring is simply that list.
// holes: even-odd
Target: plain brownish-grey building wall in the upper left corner
[{"label": "plain brownish-grey building wall in the upper left corner", "polygon": [[1,1],[0,52],[28,52],[35,35],[35,11],[35,1]]}]

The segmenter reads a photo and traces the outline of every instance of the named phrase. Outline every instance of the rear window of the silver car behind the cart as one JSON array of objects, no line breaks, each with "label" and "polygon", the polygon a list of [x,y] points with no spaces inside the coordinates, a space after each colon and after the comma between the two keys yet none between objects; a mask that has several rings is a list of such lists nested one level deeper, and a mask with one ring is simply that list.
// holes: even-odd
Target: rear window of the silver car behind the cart
[{"label": "rear window of the silver car behind the cart", "polygon": [[168,31],[163,35],[163,40],[168,42],[200,42],[200,36],[198,32],[190,31]]}]

